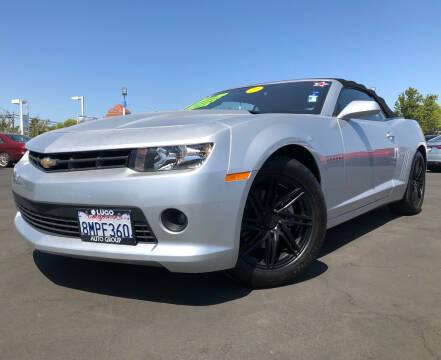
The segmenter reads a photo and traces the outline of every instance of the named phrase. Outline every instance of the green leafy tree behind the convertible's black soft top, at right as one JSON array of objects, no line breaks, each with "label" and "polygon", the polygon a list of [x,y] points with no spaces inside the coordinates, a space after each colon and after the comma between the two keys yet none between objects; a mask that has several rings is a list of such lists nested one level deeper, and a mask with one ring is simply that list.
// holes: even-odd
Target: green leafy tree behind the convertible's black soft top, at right
[{"label": "green leafy tree behind the convertible's black soft top, at right", "polygon": [[436,103],[438,95],[423,96],[417,89],[409,87],[398,96],[395,112],[406,119],[418,121],[424,133],[441,129],[441,107]]}]

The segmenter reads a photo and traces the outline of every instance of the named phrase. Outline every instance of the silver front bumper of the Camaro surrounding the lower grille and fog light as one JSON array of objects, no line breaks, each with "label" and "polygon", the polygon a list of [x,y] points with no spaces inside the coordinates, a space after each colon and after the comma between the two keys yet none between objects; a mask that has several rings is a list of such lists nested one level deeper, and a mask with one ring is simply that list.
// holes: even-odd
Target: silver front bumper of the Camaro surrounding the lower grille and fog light
[{"label": "silver front bumper of the Camaro surrounding the lower grille and fog light", "polygon": [[[212,154],[213,155],[213,154]],[[228,156],[228,155],[227,155]],[[13,191],[32,201],[141,209],[158,243],[136,246],[83,242],[38,230],[18,212],[15,226],[24,239],[43,252],[97,260],[159,265],[173,272],[208,272],[232,268],[237,261],[240,222],[252,181],[225,182],[225,170],[212,166],[190,172],[137,173],[106,169],[44,173],[25,157],[14,169]],[[206,164],[209,165],[209,164]],[[163,210],[176,208],[188,217],[180,233],[161,223]]]}]

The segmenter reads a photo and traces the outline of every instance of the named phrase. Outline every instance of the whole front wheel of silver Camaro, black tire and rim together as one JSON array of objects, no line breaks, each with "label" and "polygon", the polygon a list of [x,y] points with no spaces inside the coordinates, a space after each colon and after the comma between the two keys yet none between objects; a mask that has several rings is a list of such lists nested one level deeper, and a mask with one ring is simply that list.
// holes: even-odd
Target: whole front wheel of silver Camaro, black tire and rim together
[{"label": "whole front wheel of silver Camaro, black tire and rim together", "polygon": [[326,224],[311,171],[294,159],[270,159],[249,191],[237,264],[227,273],[252,288],[292,283],[318,256]]}]

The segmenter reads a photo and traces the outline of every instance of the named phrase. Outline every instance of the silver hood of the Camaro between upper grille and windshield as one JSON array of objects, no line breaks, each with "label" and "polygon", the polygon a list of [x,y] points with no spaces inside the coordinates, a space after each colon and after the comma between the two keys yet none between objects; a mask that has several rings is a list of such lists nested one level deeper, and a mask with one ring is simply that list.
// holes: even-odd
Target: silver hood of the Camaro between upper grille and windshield
[{"label": "silver hood of the Camaro between upper grille and windshield", "polygon": [[59,153],[145,146],[180,145],[209,141],[230,126],[226,120],[252,117],[242,110],[155,112],[103,118],[50,131],[26,143],[41,153]]}]

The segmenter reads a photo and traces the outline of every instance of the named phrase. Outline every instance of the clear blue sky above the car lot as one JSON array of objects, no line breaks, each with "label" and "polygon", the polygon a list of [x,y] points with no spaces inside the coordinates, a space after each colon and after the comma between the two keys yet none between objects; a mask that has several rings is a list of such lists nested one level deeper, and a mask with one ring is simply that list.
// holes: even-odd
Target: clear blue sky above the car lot
[{"label": "clear blue sky above the car lot", "polygon": [[[341,77],[388,104],[441,95],[441,1],[0,0],[0,112],[102,117],[182,109],[260,82]],[[440,102],[440,101],[439,101]]]}]

